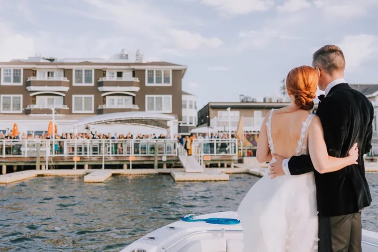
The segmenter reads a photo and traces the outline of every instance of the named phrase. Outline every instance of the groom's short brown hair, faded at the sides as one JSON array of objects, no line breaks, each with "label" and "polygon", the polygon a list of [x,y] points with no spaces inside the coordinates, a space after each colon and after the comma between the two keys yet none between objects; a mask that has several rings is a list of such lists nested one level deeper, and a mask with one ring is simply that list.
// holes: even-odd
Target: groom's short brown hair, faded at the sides
[{"label": "groom's short brown hair, faded at the sides", "polygon": [[319,67],[328,74],[345,69],[345,58],[340,47],[325,45],[317,50],[312,56],[313,67]]}]

